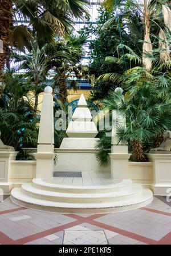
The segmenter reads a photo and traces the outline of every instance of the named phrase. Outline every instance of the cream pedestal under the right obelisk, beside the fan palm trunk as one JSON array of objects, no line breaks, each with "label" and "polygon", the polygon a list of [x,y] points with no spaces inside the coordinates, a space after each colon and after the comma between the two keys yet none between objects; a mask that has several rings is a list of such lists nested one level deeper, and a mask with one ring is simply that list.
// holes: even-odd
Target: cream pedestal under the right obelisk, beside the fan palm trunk
[{"label": "cream pedestal under the right obelisk, beside the fan palm trunk", "polygon": [[128,179],[128,159],[131,154],[112,153],[111,158],[111,177],[113,179]]}]

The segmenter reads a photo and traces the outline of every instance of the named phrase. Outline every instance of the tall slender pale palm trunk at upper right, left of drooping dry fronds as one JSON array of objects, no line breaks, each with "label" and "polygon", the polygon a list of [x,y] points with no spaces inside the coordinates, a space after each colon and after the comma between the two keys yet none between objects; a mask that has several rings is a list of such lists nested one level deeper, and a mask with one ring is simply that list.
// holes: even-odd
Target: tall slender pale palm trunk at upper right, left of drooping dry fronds
[{"label": "tall slender pale palm trunk at upper right, left of drooping dry fronds", "polygon": [[152,43],[150,41],[150,15],[148,8],[149,0],[144,0],[144,43],[143,43],[143,65],[146,70],[152,68],[152,61],[149,58],[146,58],[145,53],[152,52]]}]

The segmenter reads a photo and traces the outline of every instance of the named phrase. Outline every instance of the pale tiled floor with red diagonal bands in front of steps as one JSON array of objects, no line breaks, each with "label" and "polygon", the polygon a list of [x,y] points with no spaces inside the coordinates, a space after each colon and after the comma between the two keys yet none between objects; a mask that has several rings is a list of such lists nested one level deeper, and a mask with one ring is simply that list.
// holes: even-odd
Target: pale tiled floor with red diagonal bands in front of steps
[{"label": "pale tiled floor with red diagonal bands in front of steps", "polygon": [[113,214],[57,214],[0,203],[0,244],[171,245],[171,203],[164,197]]}]

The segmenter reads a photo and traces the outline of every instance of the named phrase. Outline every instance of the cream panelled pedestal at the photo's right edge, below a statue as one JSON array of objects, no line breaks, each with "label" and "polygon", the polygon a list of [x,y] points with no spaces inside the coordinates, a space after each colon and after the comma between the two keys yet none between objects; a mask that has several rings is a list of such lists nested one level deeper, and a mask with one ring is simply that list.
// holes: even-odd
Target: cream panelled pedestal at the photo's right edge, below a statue
[{"label": "cream panelled pedestal at the photo's right edge, below a statue", "polygon": [[171,191],[171,154],[147,154],[147,156],[153,162],[154,195],[168,195]]}]

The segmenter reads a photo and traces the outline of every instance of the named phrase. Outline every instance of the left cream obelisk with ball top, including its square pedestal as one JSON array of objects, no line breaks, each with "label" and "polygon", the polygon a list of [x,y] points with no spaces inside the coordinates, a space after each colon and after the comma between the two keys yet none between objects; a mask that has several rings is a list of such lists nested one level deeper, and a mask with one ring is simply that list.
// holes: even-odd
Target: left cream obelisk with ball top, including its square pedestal
[{"label": "left cream obelisk with ball top, including its square pedestal", "polygon": [[36,178],[50,179],[54,170],[54,103],[52,88],[44,89],[40,117],[38,151],[36,157]]}]

